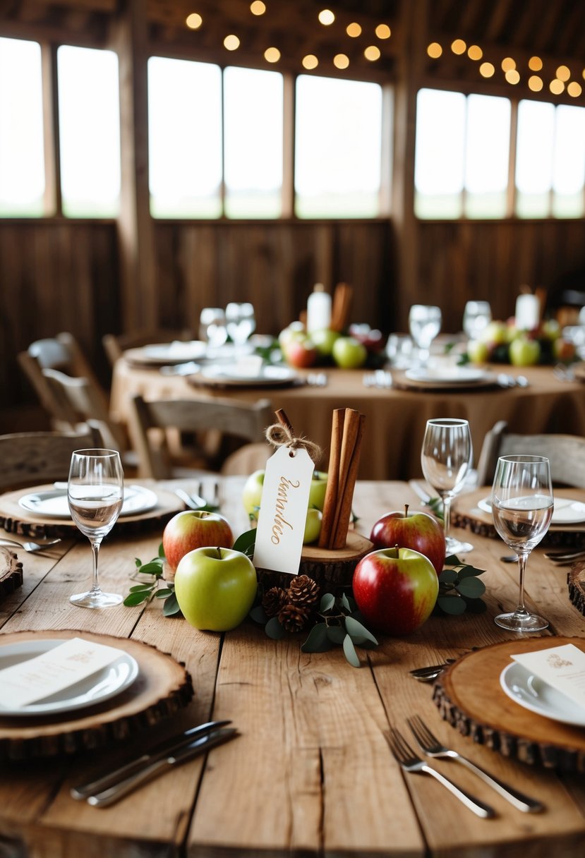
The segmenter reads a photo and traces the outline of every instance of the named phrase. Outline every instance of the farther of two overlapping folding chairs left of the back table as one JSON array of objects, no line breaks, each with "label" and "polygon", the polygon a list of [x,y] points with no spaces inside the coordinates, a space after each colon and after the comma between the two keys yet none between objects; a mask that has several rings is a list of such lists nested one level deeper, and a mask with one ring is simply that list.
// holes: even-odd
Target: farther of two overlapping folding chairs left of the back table
[{"label": "farther of two overlapping folding chairs left of the back table", "polygon": [[48,384],[44,370],[54,370],[71,378],[84,378],[92,389],[93,402],[99,403],[100,412],[107,414],[106,392],[73,335],[64,332],[52,338],[37,340],[31,343],[26,352],[18,355],[18,362],[39,396],[39,402],[49,414],[51,426],[55,430],[70,432],[74,424],[63,412],[63,397],[57,396],[54,386]]}]

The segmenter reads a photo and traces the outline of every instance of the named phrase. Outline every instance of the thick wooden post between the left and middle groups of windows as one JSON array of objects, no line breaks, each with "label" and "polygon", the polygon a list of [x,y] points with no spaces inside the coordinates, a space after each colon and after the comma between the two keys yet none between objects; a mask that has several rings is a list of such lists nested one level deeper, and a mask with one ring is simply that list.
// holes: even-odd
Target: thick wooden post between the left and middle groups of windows
[{"label": "thick wooden post between the left and middle groups of windows", "polygon": [[124,331],[156,328],[154,227],[148,192],[148,31],[146,0],[128,0],[115,33],[120,74],[122,186],[118,241]]}]

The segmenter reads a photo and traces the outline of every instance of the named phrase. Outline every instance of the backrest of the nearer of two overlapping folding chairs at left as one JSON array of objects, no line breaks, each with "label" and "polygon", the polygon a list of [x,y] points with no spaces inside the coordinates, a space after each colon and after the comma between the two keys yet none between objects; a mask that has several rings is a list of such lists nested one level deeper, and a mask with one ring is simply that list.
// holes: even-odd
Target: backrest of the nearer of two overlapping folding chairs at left
[{"label": "backrest of the nearer of two overlapping folding chairs at left", "polygon": [[120,451],[128,448],[123,427],[111,420],[100,390],[96,390],[89,379],[71,378],[64,372],[51,369],[41,370],[41,374],[58,408],[59,420],[68,426],[69,431],[73,432],[80,423],[92,420],[100,426],[106,446]]}]

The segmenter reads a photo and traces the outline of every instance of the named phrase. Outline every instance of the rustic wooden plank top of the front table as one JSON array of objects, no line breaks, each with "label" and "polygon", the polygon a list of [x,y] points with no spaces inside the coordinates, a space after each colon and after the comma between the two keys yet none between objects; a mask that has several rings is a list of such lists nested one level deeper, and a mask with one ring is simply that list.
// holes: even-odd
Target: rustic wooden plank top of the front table
[{"label": "rustic wooden plank top of the front table", "polygon": [[[236,532],[245,529],[241,485],[239,478],[222,484],[222,509]],[[414,508],[419,503],[406,484],[359,483],[359,529],[369,534],[377,517],[405,502]],[[184,619],[165,618],[160,601],[145,609],[72,607],[69,595],[90,577],[85,539],[61,543],[50,557],[19,553],[24,584],[0,601],[2,633],[81,629],[154,644],[185,662],[195,697],[170,722],[150,728],[148,737],[154,742],[212,716],[232,719],[240,735],[214,748],[207,760],[184,764],[104,809],[74,801],[69,788],[105,762],[113,768],[127,745],[4,764],[0,855],[582,856],[582,776],[559,776],[474,744],[441,720],[431,686],[408,674],[513,637],[493,622],[502,607],[516,605],[516,565],[500,562],[510,550],[499,540],[471,536],[469,560],[486,569],[487,611],[431,617],[407,637],[381,636],[377,649],[367,655],[359,650],[359,669],[350,667],[341,647],[302,653],[304,634],[275,642],[251,622],[225,635],[196,631]],[[134,559],[154,557],[159,542],[156,530],[106,538],[102,586],[128,592]],[[550,620],[544,634],[585,637],[585,618],[570,604],[566,572],[536,549],[528,560],[528,605]],[[445,744],[543,801],[545,812],[521,813],[462,766],[436,761],[439,770],[497,811],[495,819],[478,819],[431,778],[402,773],[383,731],[391,724],[408,735],[405,718],[414,713]]]}]

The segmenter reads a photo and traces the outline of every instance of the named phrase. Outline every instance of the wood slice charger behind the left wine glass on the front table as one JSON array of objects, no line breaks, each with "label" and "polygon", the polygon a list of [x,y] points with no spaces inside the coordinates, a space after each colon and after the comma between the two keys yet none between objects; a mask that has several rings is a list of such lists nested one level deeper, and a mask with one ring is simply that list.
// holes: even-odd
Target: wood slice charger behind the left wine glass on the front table
[{"label": "wood slice charger behind the left wine glass on the front table", "polygon": [[[148,486],[150,487],[150,486]],[[70,518],[53,518],[39,516],[25,510],[19,504],[20,498],[29,492],[51,490],[53,486],[30,486],[15,492],[6,492],[0,496],[0,527],[8,533],[40,539],[43,537],[60,537],[68,539],[75,535],[77,527]],[[184,510],[184,503],[174,492],[166,489],[153,488],[158,498],[157,505],[152,510],[136,513],[134,516],[121,516],[114,525],[112,536],[132,533],[146,533],[154,527],[162,529],[176,513]]]}]

